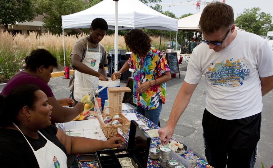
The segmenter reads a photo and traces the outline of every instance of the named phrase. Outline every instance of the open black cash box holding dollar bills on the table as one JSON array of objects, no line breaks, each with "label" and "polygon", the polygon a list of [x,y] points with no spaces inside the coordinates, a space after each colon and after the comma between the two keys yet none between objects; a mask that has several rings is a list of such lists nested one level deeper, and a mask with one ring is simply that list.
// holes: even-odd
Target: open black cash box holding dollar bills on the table
[{"label": "open black cash box holding dollar bills on the table", "polygon": [[[150,136],[135,121],[131,121],[129,142],[127,149],[96,151],[98,166],[100,168],[122,168],[119,158],[129,157],[135,168],[146,168],[150,149]],[[120,152],[125,154],[116,154]],[[105,154],[108,156],[101,156]]]}]

